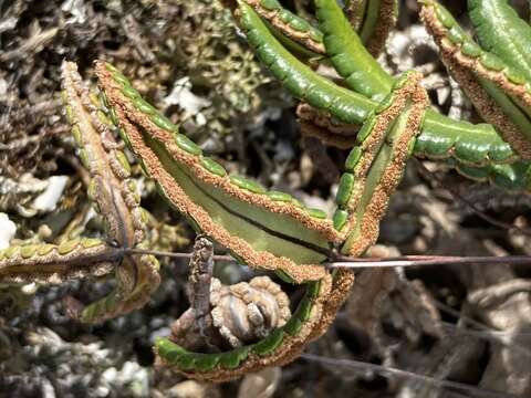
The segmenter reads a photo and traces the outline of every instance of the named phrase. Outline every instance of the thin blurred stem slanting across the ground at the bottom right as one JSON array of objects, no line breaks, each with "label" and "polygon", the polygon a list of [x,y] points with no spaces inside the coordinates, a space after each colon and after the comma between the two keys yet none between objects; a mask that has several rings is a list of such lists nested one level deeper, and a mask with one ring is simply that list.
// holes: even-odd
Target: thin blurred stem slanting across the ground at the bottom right
[{"label": "thin blurred stem slanting across the ground at the bottom right", "polygon": [[408,370],[403,370],[394,367],[387,367],[383,365],[376,365],[376,364],[371,364],[371,363],[364,363],[360,360],[354,360],[354,359],[335,359],[335,358],[329,358],[324,356],[319,356],[319,355],[313,355],[313,354],[302,354],[302,358],[306,360],[312,360],[330,366],[341,366],[345,368],[351,368],[351,369],[356,369],[356,370],[362,370],[366,371],[367,369],[371,369],[377,374],[381,375],[394,375],[398,377],[407,377],[407,378],[413,378],[420,380],[423,383],[438,386],[438,387],[444,387],[448,389],[455,389],[455,390],[460,390],[460,391],[467,391],[467,392],[472,392],[476,396],[479,397],[491,397],[491,398],[518,398],[517,396],[512,394],[506,394],[506,392],[499,392],[499,391],[492,391],[492,390],[487,390],[482,388],[478,388],[475,386],[466,385],[462,383],[457,383],[457,381],[450,381],[450,380],[441,380],[437,379],[435,377],[426,376],[426,375],[418,375],[413,371]]}]

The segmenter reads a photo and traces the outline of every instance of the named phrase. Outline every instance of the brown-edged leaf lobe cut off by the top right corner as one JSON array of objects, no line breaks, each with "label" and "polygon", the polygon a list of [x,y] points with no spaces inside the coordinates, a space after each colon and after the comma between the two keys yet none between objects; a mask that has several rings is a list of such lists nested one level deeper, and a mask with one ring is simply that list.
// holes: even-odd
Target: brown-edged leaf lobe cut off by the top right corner
[{"label": "brown-edged leaf lobe cut off by the top right corner", "polygon": [[423,2],[423,22],[440,48],[448,71],[481,116],[522,158],[531,157],[531,86],[525,77],[483,51],[435,1]]}]

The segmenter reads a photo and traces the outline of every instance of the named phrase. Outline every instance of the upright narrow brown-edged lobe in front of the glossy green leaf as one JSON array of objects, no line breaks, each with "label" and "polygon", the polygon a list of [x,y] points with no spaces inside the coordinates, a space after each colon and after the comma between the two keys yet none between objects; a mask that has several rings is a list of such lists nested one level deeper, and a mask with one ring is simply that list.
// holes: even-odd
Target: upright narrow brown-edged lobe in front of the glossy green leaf
[{"label": "upright narrow brown-edged lobe in front of the glossy green leaf", "polygon": [[421,76],[406,73],[361,130],[341,177],[334,226],[346,238],[342,252],[360,256],[376,242],[379,221],[420,130],[428,95]]}]

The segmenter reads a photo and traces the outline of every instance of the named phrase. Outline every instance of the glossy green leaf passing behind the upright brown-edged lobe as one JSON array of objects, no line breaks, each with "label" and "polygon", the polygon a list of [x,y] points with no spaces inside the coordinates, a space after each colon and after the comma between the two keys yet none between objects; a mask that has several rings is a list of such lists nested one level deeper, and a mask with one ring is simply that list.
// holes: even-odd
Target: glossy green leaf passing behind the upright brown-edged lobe
[{"label": "glossy green leaf passing behind the upright brown-edged lobe", "polygon": [[[364,123],[376,108],[378,105],[376,102],[337,86],[291,55],[277,42],[252,9],[243,6],[241,11],[241,22],[250,44],[273,75],[284,82],[292,95],[322,111],[329,111],[339,121],[350,124]],[[358,62],[357,57],[352,62]],[[365,77],[369,78],[368,75]],[[311,92],[309,87],[325,93],[312,96],[309,95]],[[330,105],[332,100],[327,103],[322,101],[324,96],[335,98],[333,106]],[[467,165],[502,163],[516,158],[509,144],[501,139],[491,125],[454,121],[428,109],[414,153],[428,158],[449,158],[454,155],[454,150],[450,150],[454,146],[456,151],[461,154],[459,160]],[[461,150],[461,147],[466,147],[467,150]]]}]

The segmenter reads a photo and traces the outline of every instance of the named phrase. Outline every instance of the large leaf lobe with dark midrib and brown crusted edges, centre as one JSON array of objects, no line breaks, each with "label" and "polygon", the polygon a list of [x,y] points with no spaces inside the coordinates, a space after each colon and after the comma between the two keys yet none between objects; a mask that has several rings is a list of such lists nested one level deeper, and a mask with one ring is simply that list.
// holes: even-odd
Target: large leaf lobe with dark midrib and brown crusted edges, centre
[{"label": "large leaf lobe with dark midrib and brown crusted edges, centre", "polygon": [[329,256],[330,242],[339,239],[331,221],[289,195],[228,176],[177,126],[153,107],[146,108],[119,72],[98,63],[96,73],[147,175],[199,231],[251,266],[281,270],[299,283],[323,276],[324,269],[317,264]]}]

